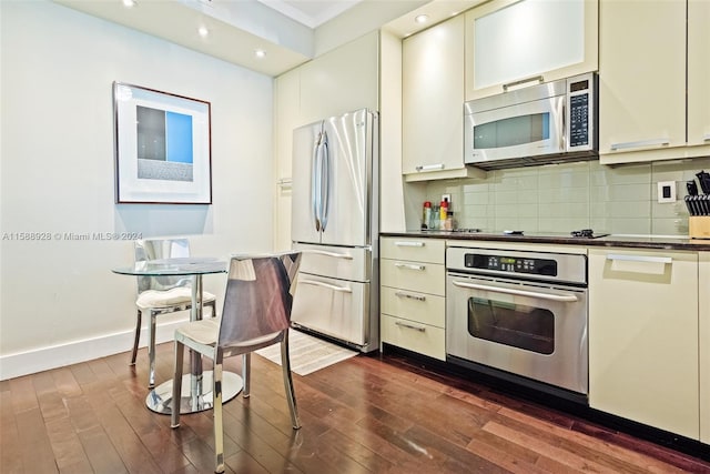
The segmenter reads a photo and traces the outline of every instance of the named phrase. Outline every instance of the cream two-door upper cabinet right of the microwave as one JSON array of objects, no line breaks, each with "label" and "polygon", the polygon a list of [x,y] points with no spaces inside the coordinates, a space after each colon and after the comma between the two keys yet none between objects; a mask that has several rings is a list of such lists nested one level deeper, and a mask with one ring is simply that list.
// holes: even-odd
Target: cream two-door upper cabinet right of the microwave
[{"label": "cream two-door upper cabinet right of the microwave", "polygon": [[601,0],[601,163],[710,152],[709,21],[704,0]]}]

